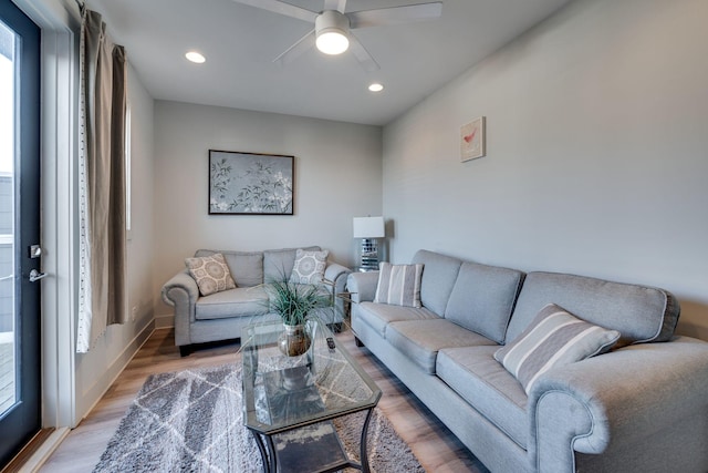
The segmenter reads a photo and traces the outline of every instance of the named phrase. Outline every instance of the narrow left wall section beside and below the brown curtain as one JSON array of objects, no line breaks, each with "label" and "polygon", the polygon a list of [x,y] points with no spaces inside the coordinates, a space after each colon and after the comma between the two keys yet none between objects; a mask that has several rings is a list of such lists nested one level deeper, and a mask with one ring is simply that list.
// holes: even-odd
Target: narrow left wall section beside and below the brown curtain
[{"label": "narrow left wall section beside and below the brown curtain", "polygon": [[85,415],[119,374],[153,326],[153,120],[154,101],[133,70],[128,70],[132,155],[132,237],[127,245],[128,310],[135,318],[108,326],[95,347],[76,354],[76,415]]}]

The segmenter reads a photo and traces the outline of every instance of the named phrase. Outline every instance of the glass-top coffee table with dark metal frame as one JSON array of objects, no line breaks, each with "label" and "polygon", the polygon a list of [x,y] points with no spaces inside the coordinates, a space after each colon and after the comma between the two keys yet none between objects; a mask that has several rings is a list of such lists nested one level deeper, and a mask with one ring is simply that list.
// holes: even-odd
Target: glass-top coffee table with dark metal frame
[{"label": "glass-top coffee table with dark metal frame", "polygon": [[[280,321],[243,328],[243,419],[267,473],[368,472],[366,436],[382,392],[330,329],[309,321],[306,353],[287,357],[278,348]],[[361,463],[346,454],[333,419],[366,411],[360,441]]]}]

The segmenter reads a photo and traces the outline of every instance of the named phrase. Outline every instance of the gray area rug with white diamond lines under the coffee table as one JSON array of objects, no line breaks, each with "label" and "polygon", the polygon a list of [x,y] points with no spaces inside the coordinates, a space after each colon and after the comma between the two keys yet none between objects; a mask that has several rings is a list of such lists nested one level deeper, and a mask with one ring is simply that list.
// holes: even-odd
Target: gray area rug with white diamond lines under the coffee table
[{"label": "gray area rug with white diamond lines under the coffee table", "polygon": [[[358,460],[363,413],[335,421]],[[374,472],[424,472],[378,410],[368,428]],[[261,472],[261,456],[241,411],[241,363],[150,376],[94,472]]]}]

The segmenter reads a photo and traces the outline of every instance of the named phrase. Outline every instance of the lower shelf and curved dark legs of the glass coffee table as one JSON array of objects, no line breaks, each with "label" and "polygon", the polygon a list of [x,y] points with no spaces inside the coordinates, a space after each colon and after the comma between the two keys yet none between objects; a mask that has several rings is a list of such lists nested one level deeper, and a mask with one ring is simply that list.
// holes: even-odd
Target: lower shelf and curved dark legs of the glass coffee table
[{"label": "lower shelf and curved dark legs of the glass coffee table", "polygon": [[360,445],[362,463],[350,460],[332,421],[272,435],[251,430],[261,452],[263,471],[266,473],[329,473],[353,467],[368,473],[366,438],[372,412],[373,409],[369,409],[362,426]]}]

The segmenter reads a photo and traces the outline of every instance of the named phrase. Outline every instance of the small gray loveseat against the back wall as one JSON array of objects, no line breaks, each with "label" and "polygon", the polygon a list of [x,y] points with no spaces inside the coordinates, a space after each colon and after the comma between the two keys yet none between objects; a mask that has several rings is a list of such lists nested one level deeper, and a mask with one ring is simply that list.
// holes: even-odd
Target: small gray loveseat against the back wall
[{"label": "small gray loveseat against the back wall", "polygon": [[[302,248],[319,251],[319,246]],[[236,289],[200,296],[197,282],[187,269],[176,274],[163,286],[163,300],[175,308],[175,345],[181,356],[191,351],[192,343],[205,343],[241,337],[241,329],[256,317],[268,315],[268,295],[263,284],[290,278],[296,248],[264,251],[231,251],[199,249],[196,257],[221,253],[226,259]],[[332,295],[334,309],[319,309],[317,317],[327,325],[342,322],[343,292],[351,270],[327,261],[322,289]]]}]

